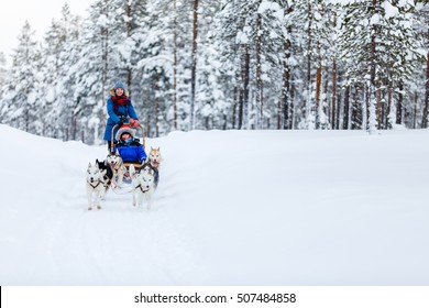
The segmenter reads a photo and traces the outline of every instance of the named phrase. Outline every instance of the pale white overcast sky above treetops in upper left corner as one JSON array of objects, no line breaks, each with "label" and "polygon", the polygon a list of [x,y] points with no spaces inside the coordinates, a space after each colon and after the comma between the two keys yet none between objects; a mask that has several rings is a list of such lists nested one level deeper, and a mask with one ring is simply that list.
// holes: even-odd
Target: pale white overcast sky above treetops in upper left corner
[{"label": "pale white overcast sky above treetops in upper left corner", "polygon": [[86,16],[91,0],[1,0],[0,52],[10,61],[10,54],[18,46],[16,37],[25,20],[30,22],[36,40],[40,41],[51,25],[52,19],[61,18],[61,10],[66,2],[73,14]]}]

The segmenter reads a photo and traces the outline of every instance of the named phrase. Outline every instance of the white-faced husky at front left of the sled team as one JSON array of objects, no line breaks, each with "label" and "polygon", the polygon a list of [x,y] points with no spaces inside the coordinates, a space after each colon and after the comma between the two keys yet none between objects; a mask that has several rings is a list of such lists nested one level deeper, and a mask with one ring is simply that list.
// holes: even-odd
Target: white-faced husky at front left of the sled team
[{"label": "white-faced husky at front left of the sled team", "polygon": [[88,210],[92,209],[92,196],[95,196],[94,205],[98,209],[101,209],[100,200],[105,195],[105,175],[107,170],[100,170],[96,165],[89,163],[87,169],[87,197],[88,197]]}]

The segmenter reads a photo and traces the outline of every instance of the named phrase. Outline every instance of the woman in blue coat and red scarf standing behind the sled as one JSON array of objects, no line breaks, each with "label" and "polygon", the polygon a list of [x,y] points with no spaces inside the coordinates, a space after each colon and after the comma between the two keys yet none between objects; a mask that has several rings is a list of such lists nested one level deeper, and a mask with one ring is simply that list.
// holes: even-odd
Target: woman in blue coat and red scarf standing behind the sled
[{"label": "woman in blue coat and red scarf standing behind the sled", "polygon": [[113,133],[117,133],[119,128],[124,122],[129,122],[132,128],[139,128],[139,118],[135,113],[131,100],[125,95],[125,87],[122,82],[117,82],[110,90],[110,98],[107,100],[107,111],[109,119],[106,124],[105,140],[108,142],[108,150],[111,153],[112,129],[118,125]]}]

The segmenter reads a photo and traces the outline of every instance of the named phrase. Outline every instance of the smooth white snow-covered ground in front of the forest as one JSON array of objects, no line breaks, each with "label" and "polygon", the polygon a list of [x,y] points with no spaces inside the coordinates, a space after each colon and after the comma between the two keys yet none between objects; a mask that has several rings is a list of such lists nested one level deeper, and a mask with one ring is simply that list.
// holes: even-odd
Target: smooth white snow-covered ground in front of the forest
[{"label": "smooth white snow-covered ground in front of the forest", "polygon": [[106,146],[0,125],[0,285],[428,285],[428,139],[174,132],[150,211],[88,211]]}]

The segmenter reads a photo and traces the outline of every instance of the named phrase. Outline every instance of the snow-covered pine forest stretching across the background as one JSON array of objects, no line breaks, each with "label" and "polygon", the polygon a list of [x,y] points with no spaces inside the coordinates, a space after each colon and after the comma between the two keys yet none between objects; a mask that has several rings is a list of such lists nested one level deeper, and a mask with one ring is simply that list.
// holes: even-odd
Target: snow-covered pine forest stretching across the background
[{"label": "snow-covered pine forest stretching across the background", "polygon": [[146,135],[428,127],[427,0],[95,0],[0,53],[0,123],[100,144],[128,87]]}]

